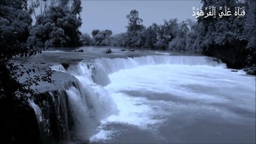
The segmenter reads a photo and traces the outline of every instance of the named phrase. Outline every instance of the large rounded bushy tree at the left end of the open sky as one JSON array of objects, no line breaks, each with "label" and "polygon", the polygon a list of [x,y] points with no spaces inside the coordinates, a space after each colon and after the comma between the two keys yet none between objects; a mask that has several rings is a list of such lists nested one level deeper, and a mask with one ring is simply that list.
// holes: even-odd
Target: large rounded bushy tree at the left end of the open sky
[{"label": "large rounded bushy tree at the left end of the open sky", "polygon": [[79,46],[82,21],[67,6],[50,6],[44,15],[38,15],[30,31],[28,43],[39,47]]}]

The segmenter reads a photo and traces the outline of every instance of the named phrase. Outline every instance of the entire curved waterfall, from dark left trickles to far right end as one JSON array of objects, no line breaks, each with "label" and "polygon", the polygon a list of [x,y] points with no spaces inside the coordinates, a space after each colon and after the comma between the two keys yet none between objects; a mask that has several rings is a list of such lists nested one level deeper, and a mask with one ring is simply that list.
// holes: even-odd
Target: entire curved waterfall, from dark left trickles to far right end
[{"label": "entire curved waterfall, from dark left trickles to far right end", "polygon": [[[75,65],[69,65],[65,69],[62,65],[51,66],[51,69],[73,75],[76,80],[73,83],[63,86],[63,90],[58,91],[56,99],[51,96],[57,117],[59,118],[62,133],[59,137],[67,140],[86,141],[95,134],[95,128],[100,121],[110,115],[118,113],[116,105],[104,89],[110,83],[108,75],[121,69],[129,69],[143,65],[191,65],[191,66],[212,66],[225,67],[210,57],[203,56],[170,56],[170,55],[149,55],[134,58],[99,58],[88,61],[80,61]],[[48,100],[49,101],[49,100]],[[34,108],[39,122],[49,125],[49,117],[42,114],[42,107],[30,101]],[[47,109],[48,111],[51,110]],[[71,118],[70,118],[71,117]],[[42,120],[45,119],[45,120]],[[48,131],[51,131],[51,126]],[[73,128],[71,128],[73,127]],[[71,136],[70,136],[71,135]]]}]

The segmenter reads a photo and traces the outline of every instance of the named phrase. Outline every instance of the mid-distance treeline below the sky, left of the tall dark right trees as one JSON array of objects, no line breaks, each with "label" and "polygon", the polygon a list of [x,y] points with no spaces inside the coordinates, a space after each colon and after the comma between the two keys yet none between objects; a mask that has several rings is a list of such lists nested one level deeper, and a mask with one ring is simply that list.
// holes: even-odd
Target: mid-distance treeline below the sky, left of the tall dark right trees
[{"label": "mid-distance treeline below the sky, left of the tall dark right trees", "polygon": [[170,19],[164,20],[163,25],[153,23],[146,28],[142,25],[143,20],[139,18],[137,10],[132,10],[126,18],[128,19],[126,33],[111,35],[111,30],[97,29],[92,31],[92,38],[86,33],[83,34],[81,42],[84,45],[199,52],[197,39],[199,28],[194,21],[187,20],[178,23],[177,19]]}]

